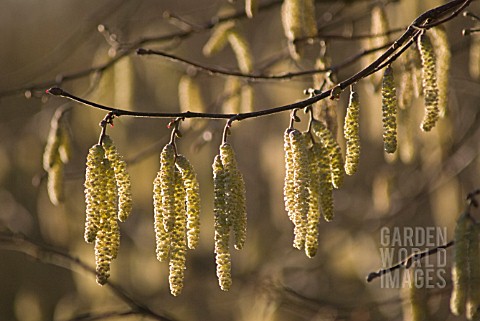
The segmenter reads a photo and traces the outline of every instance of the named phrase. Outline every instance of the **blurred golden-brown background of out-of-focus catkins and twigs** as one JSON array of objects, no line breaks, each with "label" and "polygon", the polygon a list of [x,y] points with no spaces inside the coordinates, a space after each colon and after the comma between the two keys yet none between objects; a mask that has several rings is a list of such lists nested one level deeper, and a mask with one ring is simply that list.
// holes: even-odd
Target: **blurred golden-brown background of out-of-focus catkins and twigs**
[{"label": "blurred golden-brown background of out-of-focus catkins and twigs", "polygon": [[[230,47],[211,57],[202,48],[219,16],[239,13],[235,28],[250,48],[251,73],[278,75],[314,68],[324,46],[315,43],[303,60],[293,61],[282,28],[281,1],[259,3],[259,11],[250,19],[240,0],[1,1],[0,320],[149,319],[128,313],[115,316],[130,311],[128,300],[108,285],[97,285],[88,271],[95,261],[93,246],[83,240],[85,158],[98,140],[98,124],[105,112],[44,91],[57,84],[109,106],[176,112],[179,81],[189,75],[199,84],[205,110],[225,111],[226,101],[238,96],[238,90],[225,94],[229,77],[164,57],[139,56],[135,49],[161,50],[210,68],[238,71]],[[384,5],[394,30],[406,28],[443,1],[378,3]],[[317,1],[319,35],[341,36],[324,37],[329,64],[341,66],[371,48],[368,39],[352,39],[352,35],[370,33],[373,4],[377,2]],[[478,3],[468,9],[480,14]],[[373,90],[375,80],[356,85],[361,100],[358,173],[346,177],[344,186],[335,190],[335,219],[320,223],[319,250],[312,259],[292,247],[293,225],[284,209],[283,132],[288,112],[234,123],[229,141],[246,181],[248,236],[243,250],[232,247],[229,292],[220,290],[215,275],[211,174],[225,121],[192,120],[182,125],[183,137],[177,140],[177,148],[197,170],[202,212],[200,245],[188,251],[183,293],[173,297],[168,265],[155,257],[152,205],[152,182],[159,153],[169,139],[170,120],[116,119],[108,133],[128,163],[134,206],[130,219],[120,227],[112,284],[152,311],[178,320],[406,318],[401,289],[382,287],[379,279],[367,283],[365,277],[385,267],[380,256],[382,228],[440,227],[451,239],[463,199],[479,187],[479,41],[461,35],[462,29],[477,24],[461,15],[445,24],[452,49],[446,117],[431,132],[422,132],[423,98],[415,99],[408,115],[399,120],[395,155],[386,157],[383,152],[381,97]],[[390,40],[398,35],[391,34]],[[332,77],[344,80],[379,54],[337,68]],[[401,64],[393,67],[400,70]],[[303,90],[312,87],[313,80],[312,76],[241,79],[242,85],[251,86],[254,93],[249,108],[262,110],[304,99]],[[335,102],[339,128],[347,92]],[[73,159],[65,166],[65,201],[54,206],[47,194],[42,154],[50,120],[61,106],[72,107],[67,117]],[[307,118],[298,114],[302,122],[296,127],[306,129]],[[344,150],[341,133],[338,139]],[[427,291],[432,320],[461,320],[448,309],[451,250],[447,259],[446,286]]]}]

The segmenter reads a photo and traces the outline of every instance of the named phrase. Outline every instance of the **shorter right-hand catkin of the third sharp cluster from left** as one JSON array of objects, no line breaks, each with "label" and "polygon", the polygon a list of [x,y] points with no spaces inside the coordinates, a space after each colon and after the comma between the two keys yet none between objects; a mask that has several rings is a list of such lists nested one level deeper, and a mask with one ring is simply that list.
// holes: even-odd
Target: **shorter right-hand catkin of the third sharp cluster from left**
[{"label": "shorter right-hand catkin of the third sharp cluster from left", "polygon": [[247,237],[245,182],[238,170],[235,152],[230,144],[224,143],[220,146],[220,157],[225,171],[227,215],[232,222],[234,246],[240,250],[245,245]]}]

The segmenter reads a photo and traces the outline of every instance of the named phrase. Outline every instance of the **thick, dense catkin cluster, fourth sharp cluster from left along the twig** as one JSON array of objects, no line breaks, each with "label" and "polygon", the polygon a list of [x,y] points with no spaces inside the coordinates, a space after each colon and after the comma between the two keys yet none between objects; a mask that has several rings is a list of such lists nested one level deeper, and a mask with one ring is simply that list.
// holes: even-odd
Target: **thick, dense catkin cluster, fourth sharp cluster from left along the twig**
[{"label": "thick, dense catkin cluster, fourth sharp cluster from left along the twig", "polygon": [[330,160],[324,146],[295,128],[285,131],[284,151],[284,201],[294,225],[293,246],[313,257],[321,214],[327,221],[333,218]]}]

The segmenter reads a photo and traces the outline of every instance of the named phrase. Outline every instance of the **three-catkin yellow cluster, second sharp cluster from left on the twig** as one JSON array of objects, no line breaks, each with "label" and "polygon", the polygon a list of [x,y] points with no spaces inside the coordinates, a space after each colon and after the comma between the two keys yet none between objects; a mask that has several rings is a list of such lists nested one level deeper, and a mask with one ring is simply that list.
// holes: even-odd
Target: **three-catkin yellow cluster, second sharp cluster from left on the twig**
[{"label": "three-catkin yellow cluster, second sharp cluster from left on the twig", "polygon": [[176,296],[183,288],[187,248],[198,244],[200,196],[193,166],[185,156],[175,155],[173,144],[160,154],[153,205],[157,259],[169,262],[170,292]]}]

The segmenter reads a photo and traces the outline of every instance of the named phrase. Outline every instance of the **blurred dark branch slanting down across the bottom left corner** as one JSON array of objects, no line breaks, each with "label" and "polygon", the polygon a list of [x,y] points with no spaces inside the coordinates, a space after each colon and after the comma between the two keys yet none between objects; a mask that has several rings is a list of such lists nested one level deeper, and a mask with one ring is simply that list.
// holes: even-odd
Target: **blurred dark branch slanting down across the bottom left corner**
[{"label": "blurred dark branch slanting down across the bottom left corner", "polygon": [[[23,253],[45,264],[59,266],[72,271],[80,270],[88,274],[96,275],[94,268],[90,267],[78,258],[72,257],[70,254],[50,245],[40,244],[39,242],[29,239],[22,234],[0,231],[0,249]],[[157,313],[152,311],[149,307],[132,298],[126,290],[114,282],[109,281],[105,284],[105,287],[110,288],[115,296],[117,296],[121,301],[130,307],[130,310],[122,312],[110,312],[104,314],[103,317],[100,315],[86,315],[85,317],[78,317],[73,320],[107,319],[109,317],[113,317],[113,314],[115,314],[116,317],[126,315],[142,315],[159,321],[175,320],[174,317],[170,316],[166,312]]]}]

